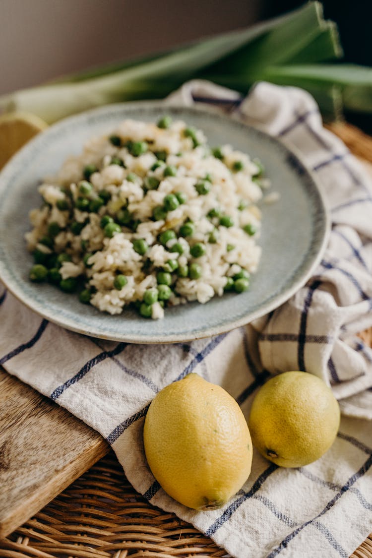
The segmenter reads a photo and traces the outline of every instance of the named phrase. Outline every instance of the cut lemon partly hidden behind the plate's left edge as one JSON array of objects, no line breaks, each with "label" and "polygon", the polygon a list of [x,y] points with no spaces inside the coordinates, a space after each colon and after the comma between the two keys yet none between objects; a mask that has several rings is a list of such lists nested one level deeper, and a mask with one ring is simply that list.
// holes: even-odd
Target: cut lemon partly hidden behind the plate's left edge
[{"label": "cut lemon partly hidden behind the plate's left edge", "polygon": [[0,169],[18,149],[47,126],[47,123],[35,114],[25,112],[2,114],[0,116]]}]

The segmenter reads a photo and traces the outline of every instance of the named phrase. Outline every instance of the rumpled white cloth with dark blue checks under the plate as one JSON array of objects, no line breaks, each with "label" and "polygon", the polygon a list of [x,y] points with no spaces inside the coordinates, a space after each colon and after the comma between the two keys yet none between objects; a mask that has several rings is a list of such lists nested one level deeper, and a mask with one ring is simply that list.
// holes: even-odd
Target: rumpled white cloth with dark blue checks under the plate
[{"label": "rumpled white cloth with dark blue checks under the plate", "polygon": [[[315,274],[254,324],[193,343],[130,345],[88,338],[41,319],[0,291],[0,363],[98,430],[128,480],[233,556],[345,556],[372,531],[372,351],[356,333],[372,325],[372,188],[361,164],[322,127],[302,90],[267,83],[247,98],[191,81],[168,103],[214,105],[295,146],[316,173],[332,233]],[[166,384],[197,372],[227,389],[248,417],[269,373],[304,370],[332,387],[344,413],[331,449],[282,469],[254,452],[252,473],[228,504],[196,512],[175,502],[148,469],[142,429]]]}]

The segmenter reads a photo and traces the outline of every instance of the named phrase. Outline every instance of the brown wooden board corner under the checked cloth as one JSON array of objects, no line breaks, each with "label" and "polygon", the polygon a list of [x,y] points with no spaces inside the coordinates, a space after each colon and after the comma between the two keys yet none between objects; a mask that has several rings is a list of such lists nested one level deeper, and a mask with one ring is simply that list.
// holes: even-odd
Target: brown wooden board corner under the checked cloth
[{"label": "brown wooden board corner under the checked cloth", "polygon": [[98,432],[0,367],[0,536],[108,451]]}]

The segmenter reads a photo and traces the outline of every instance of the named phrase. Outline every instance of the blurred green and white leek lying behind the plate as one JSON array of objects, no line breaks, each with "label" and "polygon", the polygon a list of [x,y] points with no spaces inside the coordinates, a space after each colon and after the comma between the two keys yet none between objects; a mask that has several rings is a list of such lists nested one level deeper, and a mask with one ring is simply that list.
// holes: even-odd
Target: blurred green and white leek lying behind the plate
[{"label": "blurred green and white leek lying behind the plate", "polygon": [[342,104],[372,112],[372,70],[330,64],[341,55],[337,26],[323,19],[319,2],[309,2],[250,28],[3,95],[0,108],[52,123],[102,104],[162,98],[186,80],[204,78],[243,94],[259,80],[296,85],[312,93],[331,117]]}]

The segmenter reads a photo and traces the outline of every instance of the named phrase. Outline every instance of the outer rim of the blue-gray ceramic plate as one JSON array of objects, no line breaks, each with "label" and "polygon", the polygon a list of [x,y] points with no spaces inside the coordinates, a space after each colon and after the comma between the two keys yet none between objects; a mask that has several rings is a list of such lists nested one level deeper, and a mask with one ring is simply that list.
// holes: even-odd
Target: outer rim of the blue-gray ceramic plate
[{"label": "outer rim of the blue-gray ceramic plate", "polygon": [[[169,109],[169,110],[180,110],[180,111],[189,111],[191,113],[199,113],[199,114],[209,114],[212,117],[218,117],[222,120],[226,120],[229,122],[233,122],[238,124],[241,127],[246,128],[248,131],[253,130],[254,133],[257,133],[259,136],[265,138],[265,141],[272,142],[273,144],[279,144],[284,151],[294,157],[300,165],[306,170],[307,174],[310,176],[312,180],[312,186],[315,186],[317,191],[317,195],[321,201],[322,210],[324,214],[324,224],[323,224],[323,232],[322,238],[320,242],[320,248],[318,249],[316,255],[312,259],[312,263],[308,267],[307,271],[302,273],[290,287],[288,287],[284,292],[278,294],[274,297],[273,300],[268,301],[263,306],[260,306],[259,309],[255,311],[248,312],[240,319],[231,320],[228,323],[224,323],[220,326],[211,326],[209,328],[194,330],[192,333],[190,332],[189,335],[185,334],[170,334],[170,335],[141,335],[141,334],[131,334],[131,333],[124,333],[123,335],[105,335],[102,331],[96,331],[94,328],[91,330],[81,329],[79,326],[74,325],[74,321],[69,318],[59,319],[58,315],[52,313],[52,310],[49,310],[49,307],[40,307],[38,302],[35,306],[35,301],[31,299],[28,300],[23,297],[25,293],[22,291],[22,288],[17,288],[18,285],[15,287],[13,286],[12,278],[7,273],[7,269],[4,266],[3,260],[0,258],[0,280],[3,282],[4,286],[6,286],[7,290],[11,292],[15,298],[20,301],[23,305],[27,306],[28,309],[32,310],[36,314],[40,315],[42,318],[49,320],[51,323],[59,325],[60,327],[74,331],[75,333],[79,333],[82,335],[91,336],[94,338],[105,339],[105,340],[112,340],[112,341],[119,341],[119,342],[126,342],[126,343],[133,343],[133,344],[170,344],[170,343],[180,343],[180,342],[189,342],[194,341],[196,339],[204,339],[215,335],[221,335],[228,331],[231,331],[235,328],[239,328],[240,326],[247,325],[254,321],[255,319],[261,318],[265,314],[268,314],[270,311],[278,308],[284,302],[288,301],[302,286],[306,284],[308,279],[311,277],[312,272],[318,266],[325,252],[327,247],[327,243],[331,233],[331,214],[330,209],[327,206],[325,195],[322,191],[322,187],[320,182],[318,181],[318,177],[315,175],[315,172],[310,168],[308,163],[304,160],[302,153],[293,146],[290,142],[284,140],[284,138],[277,138],[275,136],[270,135],[268,132],[264,131],[259,126],[252,126],[252,124],[247,124],[239,118],[236,118],[234,115],[221,113],[215,107],[199,107],[196,105],[182,105],[179,103],[166,103],[164,100],[140,100],[140,101],[131,101],[131,102],[123,102],[123,103],[112,103],[103,105],[100,107],[96,107],[93,109],[85,110],[84,112],[73,114],[69,117],[63,118],[60,121],[52,124],[45,131],[37,134],[31,141],[27,142],[25,146],[23,146],[15,155],[13,155],[3,169],[0,171],[0,189],[1,189],[1,182],[6,181],[7,174],[11,172],[14,166],[17,165],[17,161],[22,159],[23,153],[27,152],[28,150],[32,150],[32,148],[37,145],[37,143],[44,141],[46,135],[53,134],[55,129],[58,128],[67,128],[69,127],[69,123],[72,121],[74,123],[79,124],[79,120],[81,123],[86,123],[86,119],[89,119],[89,116],[98,116],[100,113],[106,114],[107,112],[115,112],[115,110],[120,109],[131,109],[138,108],[138,107],[147,107],[153,109]],[[34,304],[33,304],[34,303]]]}]

